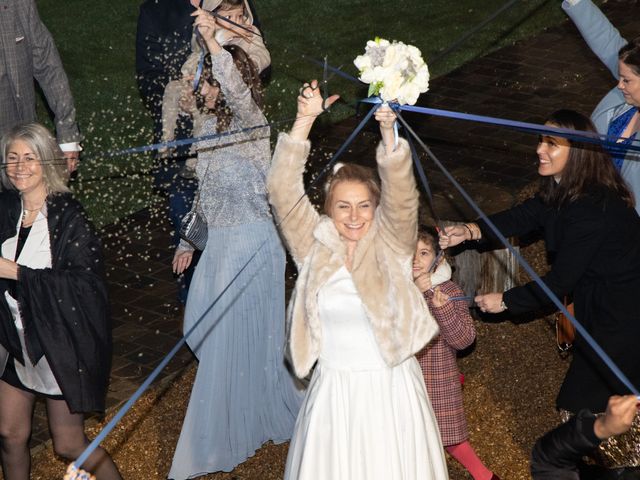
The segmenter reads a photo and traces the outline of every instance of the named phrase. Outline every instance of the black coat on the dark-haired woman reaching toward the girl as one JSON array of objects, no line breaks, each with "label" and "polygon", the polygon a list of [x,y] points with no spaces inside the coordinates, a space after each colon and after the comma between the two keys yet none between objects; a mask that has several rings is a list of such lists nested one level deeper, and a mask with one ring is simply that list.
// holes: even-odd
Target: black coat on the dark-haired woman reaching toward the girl
[{"label": "black coat on the dark-haired woman reaching toward the girl", "polygon": [[[505,236],[541,229],[552,267],[542,280],[559,297],[573,292],[575,316],[634,385],[640,385],[640,218],[608,189],[594,189],[559,209],[540,197],[490,219]],[[480,222],[483,238],[492,235]],[[504,293],[509,312],[551,304],[534,282]],[[581,335],[557,406],[571,412],[605,410],[627,388]]]}]

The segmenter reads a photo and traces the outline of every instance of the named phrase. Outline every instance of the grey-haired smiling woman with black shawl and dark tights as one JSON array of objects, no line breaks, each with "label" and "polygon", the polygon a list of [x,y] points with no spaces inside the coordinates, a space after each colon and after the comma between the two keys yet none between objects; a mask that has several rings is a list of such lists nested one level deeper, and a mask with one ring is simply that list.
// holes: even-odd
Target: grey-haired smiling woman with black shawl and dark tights
[{"label": "grey-haired smiling woman with black shawl and dark tights", "polygon": [[[0,457],[5,479],[27,480],[37,395],[58,455],[74,460],[88,445],[84,412],[105,407],[111,325],[100,242],[55,140],[18,126],[0,154]],[[102,449],[84,468],[121,478]]]}]

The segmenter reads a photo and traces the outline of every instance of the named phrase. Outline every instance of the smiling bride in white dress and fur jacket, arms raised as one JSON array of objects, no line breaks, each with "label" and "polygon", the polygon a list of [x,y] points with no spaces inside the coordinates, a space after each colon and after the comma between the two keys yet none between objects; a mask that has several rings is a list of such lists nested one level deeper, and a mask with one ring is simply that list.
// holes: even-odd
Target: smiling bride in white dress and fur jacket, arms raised
[{"label": "smiling bride in white dress and fur jacket, arms raised", "polygon": [[290,359],[300,378],[315,365],[285,479],[447,479],[414,357],[438,327],[411,276],[418,191],[408,143],[400,139],[394,148],[395,114],[380,108],[381,185],[365,167],[335,169],[321,215],[305,195],[303,173],[307,137],[322,111],[317,82],[303,86],[268,180],[298,267],[288,312]]}]

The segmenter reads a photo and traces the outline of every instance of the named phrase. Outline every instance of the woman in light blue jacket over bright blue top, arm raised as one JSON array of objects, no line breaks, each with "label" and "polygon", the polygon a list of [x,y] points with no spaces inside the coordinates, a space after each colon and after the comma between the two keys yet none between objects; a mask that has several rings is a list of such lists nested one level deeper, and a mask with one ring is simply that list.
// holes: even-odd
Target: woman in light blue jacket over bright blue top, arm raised
[{"label": "woman in light blue jacket over bright blue top, arm raised", "polygon": [[[627,42],[592,0],[565,0],[562,8],[576,24],[593,52],[618,81],[596,106],[591,118],[602,134],[618,139],[607,147],[631,192],[640,199],[640,36]],[[636,203],[640,213],[640,202]]]}]

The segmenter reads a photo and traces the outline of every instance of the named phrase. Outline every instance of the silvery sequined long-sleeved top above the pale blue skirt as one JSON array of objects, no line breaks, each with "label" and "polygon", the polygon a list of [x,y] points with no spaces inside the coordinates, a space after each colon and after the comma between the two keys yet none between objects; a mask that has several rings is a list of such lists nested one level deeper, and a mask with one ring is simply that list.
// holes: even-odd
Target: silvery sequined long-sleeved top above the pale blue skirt
[{"label": "silvery sequined long-sleeved top above the pale blue skirt", "polygon": [[[271,219],[266,174],[271,163],[267,119],[251,98],[251,91],[236,69],[231,54],[211,56],[213,76],[220,82],[233,118],[219,138],[198,142],[196,172],[200,181],[198,210],[209,228],[229,227]],[[216,133],[217,118],[204,121],[199,135]]]}]

